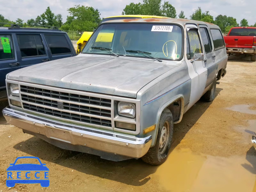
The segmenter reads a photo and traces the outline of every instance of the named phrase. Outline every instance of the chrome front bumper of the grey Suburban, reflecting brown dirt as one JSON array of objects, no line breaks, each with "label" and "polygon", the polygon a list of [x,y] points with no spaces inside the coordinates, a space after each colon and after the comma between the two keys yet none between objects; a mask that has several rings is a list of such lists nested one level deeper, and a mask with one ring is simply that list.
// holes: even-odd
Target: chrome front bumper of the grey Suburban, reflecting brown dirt
[{"label": "chrome front bumper of the grey Suburban, reflecting brown dirt", "polygon": [[86,146],[95,150],[140,158],[150,148],[152,137],[137,138],[125,134],[97,130],[85,126],[68,124],[41,116],[28,114],[19,110],[6,107],[2,111],[9,124],[60,142]]}]

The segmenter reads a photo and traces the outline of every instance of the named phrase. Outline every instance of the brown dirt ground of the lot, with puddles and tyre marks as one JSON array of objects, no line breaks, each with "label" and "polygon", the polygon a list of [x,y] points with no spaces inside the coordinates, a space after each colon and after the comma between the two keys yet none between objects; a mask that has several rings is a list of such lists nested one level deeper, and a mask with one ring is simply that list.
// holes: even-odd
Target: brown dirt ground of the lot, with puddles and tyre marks
[{"label": "brown dirt ground of the lot, with puddles and tyre marks", "polygon": [[[0,108],[7,105],[1,102]],[[256,62],[228,60],[227,74],[213,102],[197,102],[174,126],[167,161],[150,166],[142,160],[111,162],[98,156],[62,150],[23,134],[0,116],[0,190],[122,192],[252,192],[256,191]],[[36,156],[49,168],[50,186],[6,187],[10,163]]]}]

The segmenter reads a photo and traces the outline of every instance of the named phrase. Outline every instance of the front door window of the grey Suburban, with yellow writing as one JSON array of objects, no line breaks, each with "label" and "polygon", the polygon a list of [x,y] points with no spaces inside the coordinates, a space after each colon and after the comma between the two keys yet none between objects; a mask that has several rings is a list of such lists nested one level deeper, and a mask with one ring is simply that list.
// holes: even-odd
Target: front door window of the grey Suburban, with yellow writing
[{"label": "front door window of the grey Suburban, with yellow writing", "polygon": [[188,31],[189,52],[187,50],[187,58],[192,59],[194,54],[202,53],[202,45],[196,29]]}]

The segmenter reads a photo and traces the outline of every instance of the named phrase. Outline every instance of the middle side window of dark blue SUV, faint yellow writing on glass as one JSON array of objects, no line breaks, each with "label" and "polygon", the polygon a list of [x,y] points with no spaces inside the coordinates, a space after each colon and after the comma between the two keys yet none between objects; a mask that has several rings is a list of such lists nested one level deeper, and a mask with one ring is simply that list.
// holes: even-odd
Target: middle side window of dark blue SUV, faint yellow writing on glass
[{"label": "middle side window of dark blue SUV, faint yellow writing on glass", "polygon": [[46,55],[40,35],[17,35],[21,57]]}]

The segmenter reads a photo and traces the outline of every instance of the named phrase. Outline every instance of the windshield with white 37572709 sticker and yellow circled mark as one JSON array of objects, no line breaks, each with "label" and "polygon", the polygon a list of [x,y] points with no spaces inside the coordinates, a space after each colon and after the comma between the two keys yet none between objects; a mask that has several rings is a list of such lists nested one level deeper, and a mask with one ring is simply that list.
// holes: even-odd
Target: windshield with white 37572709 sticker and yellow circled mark
[{"label": "windshield with white 37572709 sticker and yellow circled mark", "polygon": [[82,53],[179,60],[182,30],[169,24],[103,24]]}]

